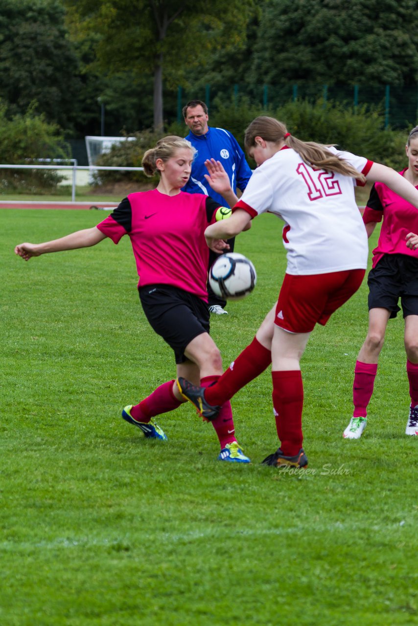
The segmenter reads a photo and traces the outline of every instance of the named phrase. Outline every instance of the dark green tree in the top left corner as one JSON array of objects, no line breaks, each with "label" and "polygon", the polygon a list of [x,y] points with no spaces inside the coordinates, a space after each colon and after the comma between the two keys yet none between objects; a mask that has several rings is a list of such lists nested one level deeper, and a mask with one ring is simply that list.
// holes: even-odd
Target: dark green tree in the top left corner
[{"label": "dark green tree in the top left corner", "polygon": [[1,0],[0,98],[8,115],[33,101],[51,123],[70,128],[80,91],[78,59],[59,0]]}]

